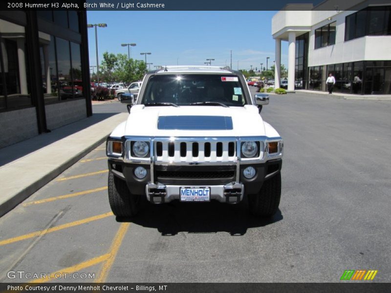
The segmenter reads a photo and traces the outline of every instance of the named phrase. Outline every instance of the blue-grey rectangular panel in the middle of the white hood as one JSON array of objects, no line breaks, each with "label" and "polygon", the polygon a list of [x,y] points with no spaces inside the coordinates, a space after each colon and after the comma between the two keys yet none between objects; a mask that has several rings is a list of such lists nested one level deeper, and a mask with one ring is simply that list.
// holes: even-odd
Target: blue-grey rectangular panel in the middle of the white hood
[{"label": "blue-grey rectangular panel in the middle of the white hood", "polygon": [[162,130],[232,130],[228,116],[160,116],[157,129]]}]

